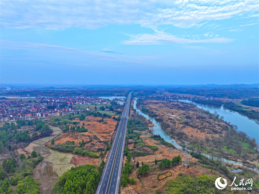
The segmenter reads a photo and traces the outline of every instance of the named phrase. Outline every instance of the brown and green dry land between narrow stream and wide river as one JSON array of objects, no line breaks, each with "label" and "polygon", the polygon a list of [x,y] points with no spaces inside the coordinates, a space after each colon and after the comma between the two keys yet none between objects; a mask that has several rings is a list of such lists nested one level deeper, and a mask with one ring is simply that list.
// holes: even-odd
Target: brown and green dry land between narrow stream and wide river
[{"label": "brown and green dry land between narrow stream and wide river", "polygon": [[[250,146],[252,141],[232,126],[194,105],[181,102],[145,100],[148,114],[155,115],[163,129],[179,144],[191,142],[191,149],[220,158],[242,162],[254,162],[258,153]],[[235,138],[239,138],[239,141]],[[240,141],[241,139],[241,141]],[[227,145],[234,145],[229,148]]]}]

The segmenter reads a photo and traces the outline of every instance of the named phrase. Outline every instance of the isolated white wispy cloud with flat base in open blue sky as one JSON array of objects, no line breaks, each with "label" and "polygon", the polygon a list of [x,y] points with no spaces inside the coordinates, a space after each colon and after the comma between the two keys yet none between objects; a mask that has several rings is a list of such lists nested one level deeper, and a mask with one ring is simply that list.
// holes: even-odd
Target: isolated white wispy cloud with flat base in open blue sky
[{"label": "isolated white wispy cloud with flat base in open blue sky", "polygon": [[156,44],[169,44],[169,43],[227,43],[232,42],[233,39],[228,38],[207,38],[207,39],[185,39],[179,38],[174,35],[164,33],[157,29],[153,29],[155,34],[126,34],[129,40],[125,40],[122,44],[125,45],[156,45]]}]

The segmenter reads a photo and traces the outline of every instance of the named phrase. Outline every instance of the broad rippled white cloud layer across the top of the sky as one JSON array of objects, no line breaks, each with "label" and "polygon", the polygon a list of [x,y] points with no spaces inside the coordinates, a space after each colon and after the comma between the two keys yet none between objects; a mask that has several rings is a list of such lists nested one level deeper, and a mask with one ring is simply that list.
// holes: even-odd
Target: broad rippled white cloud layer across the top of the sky
[{"label": "broad rippled white cloud layer across the top of the sky", "polygon": [[[108,24],[199,27],[208,20],[258,15],[258,1],[1,1],[1,28],[69,27]],[[254,14],[251,16],[251,14]],[[197,24],[204,21],[204,23]]]}]

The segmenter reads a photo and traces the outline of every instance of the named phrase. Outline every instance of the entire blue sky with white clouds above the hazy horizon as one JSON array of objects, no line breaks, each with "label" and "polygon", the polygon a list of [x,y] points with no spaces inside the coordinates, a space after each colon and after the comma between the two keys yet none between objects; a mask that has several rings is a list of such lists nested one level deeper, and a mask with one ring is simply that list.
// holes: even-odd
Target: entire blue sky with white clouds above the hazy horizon
[{"label": "entire blue sky with white clouds above the hazy horizon", "polygon": [[0,82],[259,83],[259,1],[0,1]]}]

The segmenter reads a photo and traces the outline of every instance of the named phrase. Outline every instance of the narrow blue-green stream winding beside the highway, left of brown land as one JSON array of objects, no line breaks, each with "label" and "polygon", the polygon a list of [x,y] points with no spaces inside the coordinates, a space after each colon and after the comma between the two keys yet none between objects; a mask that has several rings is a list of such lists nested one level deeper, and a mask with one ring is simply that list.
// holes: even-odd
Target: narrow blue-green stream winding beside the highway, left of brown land
[{"label": "narrow blue-green stream winding beside the highway, left of brown land", "polygon": [[[176,141],[173,138],[171,138],[170,136],[168,136],[166,134],[166,132],[161,128],[161,125],[158,121],[156,121],[153,117],[150,117],[147,114],[144,114],[139,108],[136,107],[136,100],[137,99],[135,99],[133,101],[133,108],[136,109],[136,112],[139,115],[142,115],[143,117],[147,118],[148,120],[150,120],[154,124],[154,127],[149,127],[149,128],[153,128],[152,133],[155,134],[155,135],[160,135],[162,138],[164,138],[165,141],[167,141],[169,143],[172,143],[177,149],[182,149],[182,146],[180,146],[178,143],[176,143]],[[211,155],[208,155],[208,154],[203,154],[203,153],[201,153],[201,154],[210,158],[210,159],[216,160],[216,161],[231,163],[231,164],[240,165],[240,166],[244,165],[242,162],[228,160],[226,158],[218,158],[218,157],[211,156]],[[251,168],[249,168],[249,169],[251,169]],[[251,169],[251,170],[254,170],[259,174],[259,170],[257,168]]]}]

